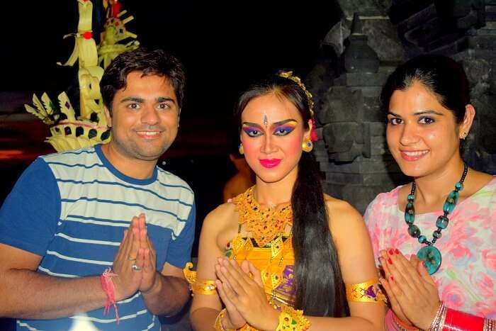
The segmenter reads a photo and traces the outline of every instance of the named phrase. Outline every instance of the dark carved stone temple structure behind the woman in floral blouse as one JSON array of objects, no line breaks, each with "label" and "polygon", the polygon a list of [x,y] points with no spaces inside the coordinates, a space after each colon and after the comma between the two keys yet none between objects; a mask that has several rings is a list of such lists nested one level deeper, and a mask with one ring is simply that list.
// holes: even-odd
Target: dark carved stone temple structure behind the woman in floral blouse
[{"label": "dark carved stone temple structure behind the woman in floral blouse", "polygon": [[410,180],[388,152],[378,97],[388,74],[419,54],[447,55],[466,69],[477,115],[463,157],[496,174],[496,0],[337,3],[342,18],[306,77],[326,191],[363,213],[378,193]]}]

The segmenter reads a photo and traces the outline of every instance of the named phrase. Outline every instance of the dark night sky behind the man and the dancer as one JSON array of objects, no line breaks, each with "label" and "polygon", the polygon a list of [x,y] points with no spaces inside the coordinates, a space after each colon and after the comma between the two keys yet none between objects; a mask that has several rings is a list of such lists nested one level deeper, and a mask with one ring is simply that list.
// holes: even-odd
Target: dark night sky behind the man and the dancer
[{"label": "dark night sky behind the man and the dancer", "polygon": [[[188,181],[196,192],[198,232],[208,211],[222,202],[222,185],[234,168],[227,159],[232,138],[230,114],[240,91],[252,79],[279,69],[305,77],[315,63],[321,40],[338,21],[333,1],[120,1],[126,25],[145,47],[160,47],[186,67],[185,106],[176,143],[162,165]],[[77,1],[9,1],[0,20],[0,152],[22,150],[21,157],[0,158],[0,202],[34,157],[53,152],[48,133],[23,103],[44,91],[52,101],[77,82],[77,65],[60,67],[74,47]],[[94,1],[94,38],[105,19]],[[129,40],[124,40],[125,42]],[[11,120],[11,118],[22,120]],[[10,120],[7,120],[7,119]],[[162,162],[162,161],[161,161]]]}]

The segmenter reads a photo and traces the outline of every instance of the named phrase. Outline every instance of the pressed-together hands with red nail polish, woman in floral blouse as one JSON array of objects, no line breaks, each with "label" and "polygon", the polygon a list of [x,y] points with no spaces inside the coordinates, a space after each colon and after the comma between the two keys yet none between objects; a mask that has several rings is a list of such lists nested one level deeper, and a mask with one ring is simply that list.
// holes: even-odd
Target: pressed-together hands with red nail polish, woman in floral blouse
[{"label": "pressed-together hands with red nail polish, woman in floral blouse", "polygon": [[381,251],[385,279],[381,284],[395,314],[404,315],[416,327],[428,330],[441,304],[436,284],[415,254],[408,261],[398,249]]}]

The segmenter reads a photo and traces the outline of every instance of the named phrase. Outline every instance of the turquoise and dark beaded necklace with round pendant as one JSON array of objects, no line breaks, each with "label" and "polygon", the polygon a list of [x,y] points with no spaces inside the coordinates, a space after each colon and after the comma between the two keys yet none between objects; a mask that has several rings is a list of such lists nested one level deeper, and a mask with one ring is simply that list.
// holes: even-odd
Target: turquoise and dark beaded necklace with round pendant
[{"label": "turquoise and dark beaded necklace with round pendant", "polygon": [[415,207],[413,206],[413,202],[415,201],[416,185],[415,181],[412,182],[412,191],[410,191],[410,194],[407,197],[407,206],[405,206],[405,222],[408,225],[408,234],[414,238],[417,238],[421,244],[426,245],[419,249],[417,252],[417,257],[420,261],[424,262],[427,271],[429,271],[429,275],[434,274],[434,272],[441,267],[441,252],[439,252],[439,249],[434,247],[434,243],[441,237],[441,231],[448,227],[448,215],[456,206],[456,202],[460,196],[459,192],[463,190],[463,181],[465,181],[467,172],[468,166],[465,162],[463,162],[463,174],[461,175],[461,179],[455,184],[455,189],[448,194],[446,201],[444,201],[443,215],[439,216],[436,220],[437,230],[432,232],[431,241],[427,240],[427,237],[422,235],[420,232],[419,227],[413,224],[415,221]]}]

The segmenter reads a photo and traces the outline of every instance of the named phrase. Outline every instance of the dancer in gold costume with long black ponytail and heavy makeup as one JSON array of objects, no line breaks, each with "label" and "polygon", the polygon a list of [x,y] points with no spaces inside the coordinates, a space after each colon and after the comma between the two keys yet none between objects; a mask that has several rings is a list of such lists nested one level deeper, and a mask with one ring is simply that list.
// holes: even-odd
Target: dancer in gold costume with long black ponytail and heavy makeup
[{"label": "dancer in gold costume with long black ponytail and heavy makeup", "polygon": [[196,330],[383,330],[361,215],[322,192],[312,108],[291,72],[240,97],[239,152],[257,180],[205,218],[185,269]]}]

